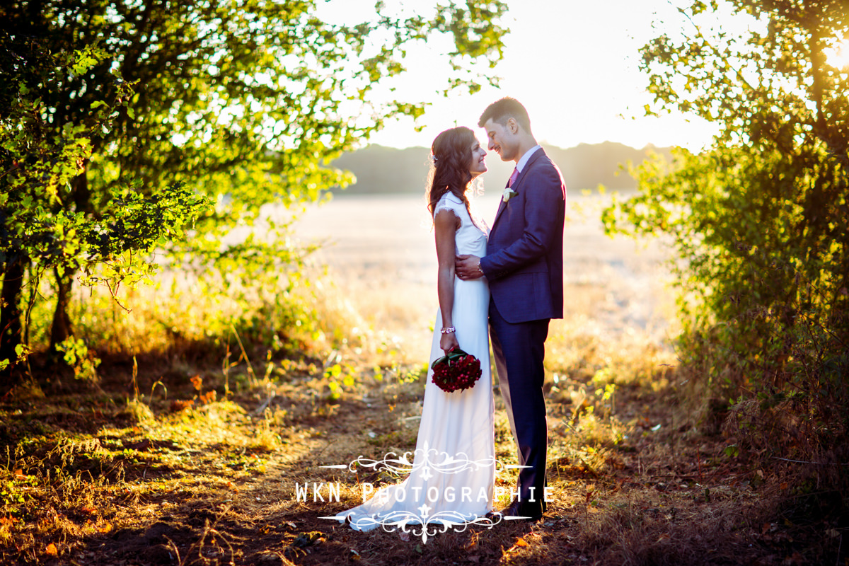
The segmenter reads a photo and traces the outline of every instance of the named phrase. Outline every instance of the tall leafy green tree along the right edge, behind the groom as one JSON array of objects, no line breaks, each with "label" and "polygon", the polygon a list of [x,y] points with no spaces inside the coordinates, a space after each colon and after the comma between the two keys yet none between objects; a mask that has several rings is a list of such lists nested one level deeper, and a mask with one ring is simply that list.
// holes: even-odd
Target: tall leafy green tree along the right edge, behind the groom
[{"label": "tall leafy green tree along the right edge, behind the groom", "polygon": [[644,165],[638,195],[604,221],[671,235],[689,368],[742,395],[738,412],[756,399],[759,417],[788,419],[760,430],[810,458],[818,440],[845,439],[849,414],[849,69],[829,62],[849,36],[847,3],[680,12],[683,33],[642,49],[654,109],[711,120],[717,136]]}]

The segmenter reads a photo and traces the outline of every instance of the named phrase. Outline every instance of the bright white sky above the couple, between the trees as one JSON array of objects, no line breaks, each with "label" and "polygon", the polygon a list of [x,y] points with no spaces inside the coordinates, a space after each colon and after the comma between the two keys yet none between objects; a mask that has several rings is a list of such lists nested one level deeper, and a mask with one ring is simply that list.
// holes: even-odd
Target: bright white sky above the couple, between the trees
[{"label": "bright white sky above the couple, between the trees", "polygon": [[[409,78],[398,88],[408,98],[433,102],[419,120],[424,130],[414,132],[412,120],[399,120],[376,134],[372,143],[429,147],[436,134],[455,125],[472,127],[482,139],[477,119],[487,104],[502,96],[525,104],[537,140],[562,148],[611,141],[636,148],[654,143],[700,149],[710,142],[712,126],[695,117],[643,116],[644,104],[652,98],[645,92],[647,76],[638,70],[638,48],[661,30],[686,25],[667,0],[508,3],[503,23],[511,33],[495,70],[503,77],[500,88],[487,86],[474,95],[457,92],[450,99],[429,95],[429,76],[447,69],[440,55],[444,44],[429,42],[405,59]],[[370,12],[374,0],[334,0],[327,5],[351,23],[357,7]]]}]

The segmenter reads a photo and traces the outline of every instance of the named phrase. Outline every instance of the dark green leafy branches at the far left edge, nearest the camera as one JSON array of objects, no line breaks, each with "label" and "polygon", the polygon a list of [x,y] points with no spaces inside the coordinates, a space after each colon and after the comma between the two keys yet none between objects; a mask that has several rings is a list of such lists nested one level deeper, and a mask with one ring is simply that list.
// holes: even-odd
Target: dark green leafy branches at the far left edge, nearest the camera
[{"label": "dark green leafy branches at the far left edge, nearest the camera", "polygon": [[9,288],[16,287],[20,295],[25,267],[33,289],[27,311],[44,272],[61,281],[82,270],[83,283],[104,283],[115,293],[121,283],[138,283],[152,272],[149,253],[166,239],[183,237],[205,201],[180,182],[143,193],[138,180],[125,178],[99,195],[94,215],[72,184],[86,171],[119,109],[126,108],[132,85],[113,76],[93,93],[87,111],[57,127],[44,93],[60,77],[85,76],[106,59],[104,50],[50,53],[37,39],[0,32],[0,53],[9,77],[0,87],[0,265],[5,274],[0,357],[8,358],[18,346],[17,328],[11,327],[20,316],[8,317],[7,309],[17,310],[20,300]]}]

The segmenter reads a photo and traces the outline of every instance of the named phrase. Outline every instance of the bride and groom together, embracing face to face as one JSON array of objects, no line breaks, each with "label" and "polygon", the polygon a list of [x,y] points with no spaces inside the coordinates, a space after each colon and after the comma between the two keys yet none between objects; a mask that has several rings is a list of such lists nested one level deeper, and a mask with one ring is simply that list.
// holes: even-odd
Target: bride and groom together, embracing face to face
[{"label": "bride and groom together, embracing face to face", "polygon": [[[439,309],[419,435],[402,483],[381,487],[335,516],[357,530],[537,521],[552,498],[545,475],[543,360],[548,322],[563,317],[565,183],[519,101],[490,104],[478,126],[486,149],[464,126],[441,132],[431,146],[427,199]],[[486,171],[487,149],[515,164],[488,227],[467,197],[472,181]],[[495,458],[490,341],[518,449],[519,476],[506,489],[495,487],[503,467]],[[452,379],[460,384],[451,386]],[[509,504],[497,508],[502,494]]]}]

